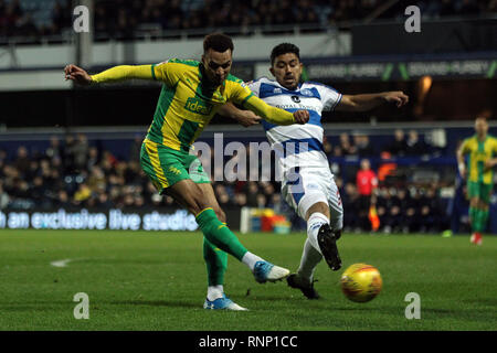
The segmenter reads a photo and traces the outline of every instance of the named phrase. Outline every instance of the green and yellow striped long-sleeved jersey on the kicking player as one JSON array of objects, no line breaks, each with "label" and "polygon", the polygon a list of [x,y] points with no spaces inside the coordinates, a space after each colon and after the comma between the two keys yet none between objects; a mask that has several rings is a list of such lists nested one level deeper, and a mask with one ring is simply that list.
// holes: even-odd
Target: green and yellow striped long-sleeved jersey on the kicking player
[{"label": "green and yellow striped long-sleeved jersey on the kicking player", "polygon": [[292,113],[268,106],[233,75],[229,75],[222,85],[212,86],[203,65],[194,60],[171,58],[155,65],[120,65],[92,76],[95,83],[129,78],[163,83],[146,138],[175,150],[189,151],[216,110],[228,101],[240,104],[269,122],[295,122]]}]

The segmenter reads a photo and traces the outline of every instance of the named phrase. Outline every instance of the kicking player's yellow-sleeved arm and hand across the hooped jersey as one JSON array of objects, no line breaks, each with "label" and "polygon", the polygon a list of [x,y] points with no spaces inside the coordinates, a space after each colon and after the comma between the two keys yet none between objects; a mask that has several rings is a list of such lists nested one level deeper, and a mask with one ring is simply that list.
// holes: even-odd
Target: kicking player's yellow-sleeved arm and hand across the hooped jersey
[{"label": "kicking player's yellow-sleeved arm and hand across the hooped jersey", "polygon": [[276,125],[306,124],[309,121],[309,111],[307,110],[289,113],[272,107],[256,96],[251,96],[244,101],[243,106],[261,116],[264,120]]}]

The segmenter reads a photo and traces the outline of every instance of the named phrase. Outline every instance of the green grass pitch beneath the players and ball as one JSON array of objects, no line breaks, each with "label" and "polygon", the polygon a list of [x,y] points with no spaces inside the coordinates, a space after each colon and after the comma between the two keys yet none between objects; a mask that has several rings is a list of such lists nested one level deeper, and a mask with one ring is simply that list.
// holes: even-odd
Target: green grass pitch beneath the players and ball
[{"label": "green grass pitch beneath the players and ball", "polygon": [[[240,235],[253,253],[293,271],[305,234]],[[379,268],[383,290],[368,303],[347,300],[342,270],[321,261],[307,300],[285,281],[260,285],[234,258],[225,291],[247,312],[202,309],[205,268],[200,233],[1,231],[0,330],[496,330],[497,237],[352,235],[339,240],[343,269]],[[71,259],[65,267],[52,261]],[[73,297],[89,298],[76,320]],[[404,315],[406,293],[421,319]]]}]

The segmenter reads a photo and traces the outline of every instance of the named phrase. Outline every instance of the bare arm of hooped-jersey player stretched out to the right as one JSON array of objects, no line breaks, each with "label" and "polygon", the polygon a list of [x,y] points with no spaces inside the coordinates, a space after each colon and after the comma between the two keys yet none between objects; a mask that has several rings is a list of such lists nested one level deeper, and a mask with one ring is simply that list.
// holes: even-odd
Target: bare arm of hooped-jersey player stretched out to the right
[{"label": "bare arm of hooped-jersey player stretched out to the right", "polygon": [[335,108],[342,111],[367,111],[383,104],[395,104],[398,108],[406,105],[409,96],[401,90],[361,95],[343,95]]}]

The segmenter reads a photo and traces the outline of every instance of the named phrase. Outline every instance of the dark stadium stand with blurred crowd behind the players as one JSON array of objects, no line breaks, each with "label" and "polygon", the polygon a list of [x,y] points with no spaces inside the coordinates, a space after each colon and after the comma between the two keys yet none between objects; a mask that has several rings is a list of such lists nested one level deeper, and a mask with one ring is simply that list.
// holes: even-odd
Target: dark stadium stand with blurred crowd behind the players
[{"label": "dark stadium stand with blurred crowd behind the players", "polygon": [[[350,35],[350,46],[345,54],[316,56],[313,52],[303,51],[305,76],[343,94],[400,89],[410,96],[411,103],[402,109],[383,106],[367,114],[324,115],[329,143],[327,153],[346,205],[346,228],[368,231],[360,220],[353,217],[355,213],[348,211],[356,207],[353,188],[359,161],[369,158],[374,170],[385,161],[398,165],[396,173],[380,184],[382,195],[389,194],[384,200],[387,210],[394,205],[400,205],[401,210],[415,208],[414,217],[402,212],[385,214],[380,232],[468,232],[467,204],[464,185],[456,171],[455,148],[463,138],[473,133],[473,120],[478,115],[490,119],[490,133],[497,131],[494,122],[497,111],[496,1],[300,0],[265,3],[254,0],[240,3],[192,0],[150,1],[145,7],[138,3],[117,0],[77,2],[94,9],[91,44],[86,45],[124,43],[129,47],[128,56],[119,62],[91,65],[86,67],[89,72],[96,73],[117,64],[150,64],[133,61],[137,56],[135,45],[166,41],[163,56],[156,60],[160,62],[177,55],[168,52],[167,41],[201,40],[212,31],[231,34],[235,45],[237,40],[247,39],[271,38],[272,45],[276,45],[292,42],[299,35],[321,34],[330,39],[339,34]],[[409,4],[421,9],[420,33],[404,31],[408,18],[404,9]],[[177,207],[170,197],[160,200],[135,169],[136,165],[130,163],[136,158],[135,139],[144,136],[151,121],[159,85],[134,82],[92,88],[44,88],[41,83],[32,88],[29,85],[15,86],[15,78],[10,83],[8,81],[12,78],[3,78],[60,71],[63,81],[63,65],[23,65],[19,53],[24,49],[35,51],[36,47],[70,44],[77,49],[72,62],[84,61],[82,51],[85,46],[81,43],[85,38],[72,30],[72,9],[75,6],[76,2],[71,1],[0,1],[0,83],[3,81],[0,90],[0,201],[3,200],[0,212],[31,214],[34,211],[56,212],[62,207],[67,212],[117,208],[124,213],[157,210],[171,214]],[[205,15],[213,12],[216,15]],[[235,46],[232,73],[246,81],[256,78],[257,65],[268,65],[271,49],[265,49],[265,55],[246,58],[240,54],[240,46]],[[200,47],[195,52],[199,51]],[[60,58],[54,57],[56,62]],[[410,66],[413,63],[417,66]],[[381,68],[376,74],[367,74],[366,68],[370,64]],[[335,69],[339,66],[348,67],[347,73],[339,75]],[[420,67],[426,69],[423,72]],[[362,74],[361,68],[364,68]],[[329,74],[320,74],[324,72]],[[427,81],[431,84],[423,88]],[[17,88],[10,89],[10,85]],[[406,136],[415,130],[422,143],[411,150],[392,151],[395,129],[402,129]],[[213,119],[200,140],[212,142],[214,132],[224,132],[225,141],[247,143],[265,140],[261,127],[244,129],[221,117]],[[66,142],[66,136],[78,133],[87,138],[87,147],[83,147],[84,163],[75,165],[74,153],[81,153],[75,152],[81,149]],[[343,133],[349,135],[352,145],[356,136],[367,136],[368,146],[347,150],[340,147],[340,135]],[[53,161],[53,154],[47,154],[52,137],[61,141],[61,164],[49,165],[49,169],[57,170],[59,180],[42,176],[41,182],[35,182],[36,175],[43,175],[42,160]],[[19,162],[21,146],[27,148],[28,159],[34,163]],[[102,167],[105,158],[112,167],[103,167],[104,189],[93,189],[86,197],[81,196],[85,195],[82,184],[88,183],[95,165],[88,167],[89,147],[98,150],[97,164]],[[390,159],[382,159],[383,152],[389,152]],[[19,173],[14,171],[15,175],[12,175],[12,169],[6,170],[7,165],[18,169]],[[119,165],[118,172],[115,171],[116,165]],[[118,181],[110,181],[113,178]],[[214,183],[221,204],[232,220],[232,227],[240,225],[240,207],[243,205],[286,212],[294,220],[294,228],[302,227],[295,215],[282,204],[278,183],[255,183],[255,193],[250,192],[248,184]],[[435,191],[434,195],[429,192],[431,189]],[[399,190],[408,191],[408,199],[399,199]],[[103,193],[106,194],[103,199],[107,200],[99,201]],[[264,197],[254,197],[257,194]],[[494,214],[496,204],[494,194]],[[423,205],[430,212],[425,222],[420,223],[416,220]],[[490,216],[491,233],[497,233],[495,218]],[[3,224],[6,226],[8,224]]]}]

